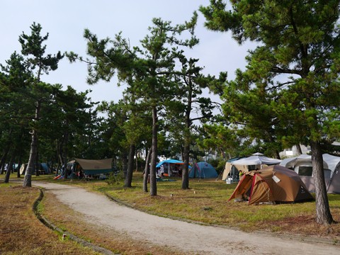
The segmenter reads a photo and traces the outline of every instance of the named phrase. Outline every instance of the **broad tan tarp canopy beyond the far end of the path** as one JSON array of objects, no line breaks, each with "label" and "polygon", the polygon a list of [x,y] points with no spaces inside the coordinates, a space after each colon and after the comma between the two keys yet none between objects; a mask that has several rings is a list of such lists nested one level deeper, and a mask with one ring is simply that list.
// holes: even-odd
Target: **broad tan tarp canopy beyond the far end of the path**
[{"label": "broad tan tarp canopy beyond the far end of the path", "polygon": [[111,159],[75,159],[84,174],[105,174],[113,171]]}]

